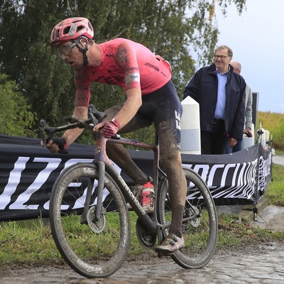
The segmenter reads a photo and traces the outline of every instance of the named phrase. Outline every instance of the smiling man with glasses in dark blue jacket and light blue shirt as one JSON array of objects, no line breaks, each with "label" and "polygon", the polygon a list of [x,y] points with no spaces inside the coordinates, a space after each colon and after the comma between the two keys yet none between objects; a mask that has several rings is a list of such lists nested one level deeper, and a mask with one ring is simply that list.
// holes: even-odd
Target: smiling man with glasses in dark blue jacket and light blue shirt
[{"label": "smiling man with glasses in dark blue jacket and light blue shirt", "polygon": [[246,82],[229,65],[233,51],[226,45],[215,50],[214,64],[202,67],[185,87],[200,104],[202,154],[224,154],[243,138]]}]

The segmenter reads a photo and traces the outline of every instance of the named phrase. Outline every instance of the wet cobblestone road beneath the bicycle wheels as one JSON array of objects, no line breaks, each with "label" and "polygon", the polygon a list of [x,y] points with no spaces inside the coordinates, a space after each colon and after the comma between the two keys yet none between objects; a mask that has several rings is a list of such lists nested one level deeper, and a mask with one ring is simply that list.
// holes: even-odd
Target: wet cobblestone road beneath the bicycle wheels
[{"label": "wet cobblestone road beneath the bicycle wheels", "polygon": [[126,261],[107,279],[87,279],[70,268],[30,268],[9,271],[1,284],[108,283],[284,283],[284,241],[255,244],[245,249],[217,252],[209,264],[199,270],[180,268],[171,258]]}]

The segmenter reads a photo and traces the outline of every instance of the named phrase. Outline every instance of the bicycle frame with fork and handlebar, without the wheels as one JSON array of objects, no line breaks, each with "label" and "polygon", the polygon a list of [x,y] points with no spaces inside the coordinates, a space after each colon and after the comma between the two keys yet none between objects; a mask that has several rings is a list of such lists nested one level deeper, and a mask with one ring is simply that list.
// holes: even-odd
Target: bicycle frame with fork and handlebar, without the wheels
[{"label": "bicycle frame with fork and handlebar, without the wheels", "polygon": [[[43,141],[45,141],[45,133],[48,134],[48,138],[53,138],[53,134],[58,131],[65,131],[67,129],[93,129],[94,125],[97,125],[99,121],[102,121],[104,117],[106,117],[106,114],[97,111],[97,109],[94,108],[93,105],[89,106],[88,109],[89,117],[90,119],[87,120],[80,120],[76,119],[72,116],[69,117],[70,124],[65,126],[58,126],[58,127],[50,127],[46,124],[44,120],[40,121],[40,132],[42,135]],[[99,121],[98,121],[99,119]],[[93,123],[93,124],[91,124]],[[145,226],[145,229],[148,234],[158,234],[158,238],[163,238],[163,231],[165,229],[170,228],[171,222],[167,222],[165,224],[160,224],[158,222],[157,218],[157,199],[155,198],[155,209],[154,212],[151,214],[146,214],[145,210],[143,210],[143,207],[138,202],[136,197],[131,192],[128,185],[126,185],[126,182],[121,178],[121,175],[117,172],[117,170],[114,168],[114,165],[111,163],[111,160],[109,160],[109,157],[107,156],[106,146],[107,143],[117,143],[125,146],[134,146],[135,148],[144,148],[144,149],[150,149],[154,153],[153,158],[153,185],[155,190],[155,197],[158,196],[158,178],[159,173],[161,173],[163,176],[166,177],[165,173],[163,173],[163,170],[159,167],[159,147],[158,143],[155,144],[149,144],[149,143],[143,143],[141,141],[136,141],[128,138],[121,138],[119,135],[113,138],[104,138],[102,136],[102,133],[97,133],[97,147],[94,155],[94,165],[97,165],[99,170],[99,180],[98,180],[98,186],[97,186],[97,210],[95,213],[95,220],[99,221],[102,213],[102,195],[104,190],[104,176],[105,171],[107,168],[107,173],[111,175],[111,178],[114,179],[114,181],[119,185],[119,188],[124,195],[124,198],[126,202],[129,202],[133,210],[136,212],[138,218],[141,220],[142,224]],[[59,153],[67,153],[67,151],[58,151]],[[84,206],[84,212],[82,214],[82,223],[87,222],[87,212],[89,209],[89,204],[91,203],[92,199],[92,191],[94,187],[94,182],[92,184],[88,185],[87,187],[87,196],[86,196],[86,202]],[[196,214],[194,214],[192,217],[185,217],[182,219],[182,222],[187,222],[190,219],[194,219],[195,217],[198,217]]]}]

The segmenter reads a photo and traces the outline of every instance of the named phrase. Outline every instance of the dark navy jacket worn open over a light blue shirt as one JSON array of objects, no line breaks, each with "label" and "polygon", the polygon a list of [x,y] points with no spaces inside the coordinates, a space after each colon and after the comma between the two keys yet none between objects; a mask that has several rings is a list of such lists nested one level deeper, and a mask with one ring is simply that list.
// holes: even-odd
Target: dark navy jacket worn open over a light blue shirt
[{"label": "dark navy jacket worn open over a light blue shirt", "polygon": [[[225,85],[225,126],[226,136],[243,139],[244,111],[246,82],[241,75],[233,72],[230,65],[228,79]],[[183,99],[187,96],[195,99],[200,104],[200,130],[212,131],[214,114],[217,104],[218,77],[214,64],[202,67],[192,77],[185,87]]]}]

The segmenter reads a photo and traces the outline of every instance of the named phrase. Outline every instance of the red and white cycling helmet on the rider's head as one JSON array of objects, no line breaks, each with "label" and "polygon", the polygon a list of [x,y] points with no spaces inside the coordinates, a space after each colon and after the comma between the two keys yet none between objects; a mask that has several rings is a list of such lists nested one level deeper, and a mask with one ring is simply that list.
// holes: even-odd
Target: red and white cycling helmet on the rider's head
[{"label": "red and white cycling helmet on the rider's head", "polygon": [[66,18],[53,28],[50,44],[58,46],[82,35],[89,39],[94,36],[94,29],[89,20],[82,17]]}]

